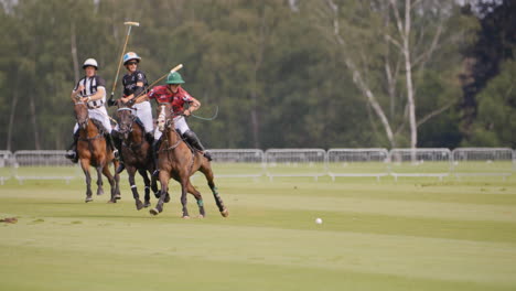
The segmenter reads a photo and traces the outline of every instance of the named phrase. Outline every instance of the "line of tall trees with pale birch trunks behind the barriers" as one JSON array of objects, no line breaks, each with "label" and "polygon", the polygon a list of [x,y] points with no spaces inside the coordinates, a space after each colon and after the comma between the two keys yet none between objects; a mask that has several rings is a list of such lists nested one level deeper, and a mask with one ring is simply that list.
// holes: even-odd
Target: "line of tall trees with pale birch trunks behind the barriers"
[{"label": "line of tall trees with pale birch trunks behind the barriers", "polygon": [[2,149],[68,146],[82,62],[110,91],[125,21],[150,82],[182,63],[218,109],[189,120],[208,148],[516,148],[514,1],[0,3]]}]

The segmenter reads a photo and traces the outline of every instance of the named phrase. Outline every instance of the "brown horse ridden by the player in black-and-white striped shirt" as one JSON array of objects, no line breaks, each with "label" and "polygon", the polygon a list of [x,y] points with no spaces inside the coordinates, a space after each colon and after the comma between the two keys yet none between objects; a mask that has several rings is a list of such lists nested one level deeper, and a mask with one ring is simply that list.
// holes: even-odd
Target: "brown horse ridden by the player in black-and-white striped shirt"
[{"label": "brown horse ridden by the player in black-and-white striped shirt", "polygon": [[[89,118],[88,108],[82,101],[75,101],[74,106],[75,118],[79,127],[79,138],[77,141],[77,153],[80,162],[80,168],[86,175],[86,202],[92,202],[92,175],[89,174],[89,165],[97,170],[97,195],[104,194],[103,173],[108,179],[111,186],[111,197],[108,203],[116,203],[120,198],[120,190],[118,182],[120,176],[111,175],[109,163],[118,166],[118,161],[115,159],[112,149],[106,144],[106,138],[99,131],[99,127],[95,125],[94,119]],[[100,122],[98,122],[100,123]]]}]

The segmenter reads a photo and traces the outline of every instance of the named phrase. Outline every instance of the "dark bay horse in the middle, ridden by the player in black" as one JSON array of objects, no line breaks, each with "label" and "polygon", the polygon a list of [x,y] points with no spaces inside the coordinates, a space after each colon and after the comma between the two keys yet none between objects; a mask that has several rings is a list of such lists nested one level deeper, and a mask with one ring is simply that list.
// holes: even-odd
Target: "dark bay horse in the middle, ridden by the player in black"
[{"label": "dark bay horse in the middle, ridden by the player in black", "polygon": [[[129,174],[129,184],[131,186],[132,196],[136,201],[136,207],[140,211],[143,207],[149,207],[150,204],[150,188],[154,195],[159,196],[157,179],[152,175],[154,161],[152,158],[152,144],[146,139],[146,130],[138,117],[133,115],[129,104],[118,103],[118,127],[121,134],[122,147],[121,154],[123,155],[123,163]],[[138,188],[135,183],[136,172],[140,173],[146,185],[144,203],[140,201]],[[151,174],[151,180],[147,175]]]}]

